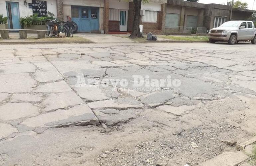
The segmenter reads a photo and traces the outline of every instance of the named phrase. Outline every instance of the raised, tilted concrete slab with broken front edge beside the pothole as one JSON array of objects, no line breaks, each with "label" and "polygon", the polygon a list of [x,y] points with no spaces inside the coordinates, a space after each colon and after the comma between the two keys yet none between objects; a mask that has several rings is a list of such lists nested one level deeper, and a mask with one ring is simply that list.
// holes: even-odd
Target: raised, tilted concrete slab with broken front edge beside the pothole
[{"label": "raised, tilted concrete slab with broken front edge beside the pothole", "polygon": [[57,110],[41,114],[36,117],[26,119],[21,124],[34,128],[67,127],[92,124],[98,125],[99,121],[87,105],[81,104],[67,110]]}]

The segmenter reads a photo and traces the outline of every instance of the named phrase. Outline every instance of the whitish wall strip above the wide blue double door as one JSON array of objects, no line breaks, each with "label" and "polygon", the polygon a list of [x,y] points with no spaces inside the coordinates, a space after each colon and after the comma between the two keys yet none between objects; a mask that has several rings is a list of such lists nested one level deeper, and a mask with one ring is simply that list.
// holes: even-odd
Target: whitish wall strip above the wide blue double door
[{"label": "whitish wall strip above the wide blue double door", "polygon": [[104,0],[64,0],[64,5],[104,7]]}]

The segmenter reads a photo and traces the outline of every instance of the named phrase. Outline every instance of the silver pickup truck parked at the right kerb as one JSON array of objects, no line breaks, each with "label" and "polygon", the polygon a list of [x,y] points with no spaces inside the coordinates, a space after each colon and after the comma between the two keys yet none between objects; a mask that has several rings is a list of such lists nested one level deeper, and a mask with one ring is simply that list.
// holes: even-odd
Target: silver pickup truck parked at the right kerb
[{"label": "silver pickup truck parked at the right kerb", "polygon": [[235,44],[239,41],[251,41],[256,44],[256,29],[252,21],[228,21],[210,30],[209,42],[227,41]]}]

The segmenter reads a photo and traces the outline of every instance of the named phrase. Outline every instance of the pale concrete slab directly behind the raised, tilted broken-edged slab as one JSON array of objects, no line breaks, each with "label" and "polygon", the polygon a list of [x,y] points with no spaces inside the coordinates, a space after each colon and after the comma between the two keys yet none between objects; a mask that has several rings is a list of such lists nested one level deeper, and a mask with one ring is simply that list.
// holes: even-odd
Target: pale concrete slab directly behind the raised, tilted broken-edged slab
[{"label": "pale concrete slab directly behind the raised, tilted broken-edged slab", "polygon": [[74,92],[63,92],[59,94],[50,94],[41,104],[43,111],[57,110],[69,106],[83,104],[83,101]]}]

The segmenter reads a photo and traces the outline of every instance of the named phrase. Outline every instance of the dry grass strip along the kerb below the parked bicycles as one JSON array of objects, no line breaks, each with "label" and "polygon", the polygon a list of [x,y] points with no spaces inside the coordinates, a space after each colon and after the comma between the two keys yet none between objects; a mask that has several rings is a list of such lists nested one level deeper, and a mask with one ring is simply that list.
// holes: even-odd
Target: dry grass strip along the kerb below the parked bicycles
[{"label": "dry grass strip along the kerb below the parked bicycles", "polygon": [[90,41],[88,39],[82,38],[82,37],[73,37],[73,38],[56,38],[56,37],[46,37],[45,39],[35,39],[35,38],[28,38],[29,41],[72,41],[72,42],[86,42]]}]

